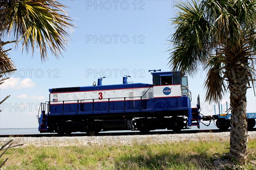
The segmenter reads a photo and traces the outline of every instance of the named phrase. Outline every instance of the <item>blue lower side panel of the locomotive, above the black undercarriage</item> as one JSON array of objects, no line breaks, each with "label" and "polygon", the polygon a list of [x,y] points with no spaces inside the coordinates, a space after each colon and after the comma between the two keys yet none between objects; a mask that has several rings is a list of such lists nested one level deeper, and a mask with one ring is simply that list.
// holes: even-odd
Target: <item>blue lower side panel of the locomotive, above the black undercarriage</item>
[{"label": "blue lower side panel of the locomotive, above the black undercarriage", "polygon": [[165,116],[191,117],[187,97],[166,97],[142,100],[50,104],[49,115],[111,114],[111,113],[164,113]]}]

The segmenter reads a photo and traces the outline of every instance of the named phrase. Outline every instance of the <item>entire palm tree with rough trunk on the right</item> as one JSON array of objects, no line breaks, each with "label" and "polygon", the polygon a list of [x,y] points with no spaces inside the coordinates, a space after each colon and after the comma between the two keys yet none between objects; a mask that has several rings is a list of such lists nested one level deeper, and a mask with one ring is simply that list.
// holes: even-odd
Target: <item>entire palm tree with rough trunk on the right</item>
[{"label": "entire palm tree with rough trunk on the right", "polygon": [[[169,64],[174,70],[207,71],[207,101],[230,92],[230,156],[247,161],[246,91],[255,81],[256,1],[203,0],[182,4],[172,19]],[[227,82],[227,83],[225,83]],[[252,82],[252,84],[250,84]]]}]

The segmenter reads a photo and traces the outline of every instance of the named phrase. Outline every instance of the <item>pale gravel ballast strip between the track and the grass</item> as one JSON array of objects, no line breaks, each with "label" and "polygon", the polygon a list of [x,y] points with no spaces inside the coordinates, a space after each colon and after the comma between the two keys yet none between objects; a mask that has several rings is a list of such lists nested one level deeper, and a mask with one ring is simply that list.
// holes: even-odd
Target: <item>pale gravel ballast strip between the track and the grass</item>
[{"label": "pale gravel ballast strip between the track and the grass", "polygon": [[[248,132],[249,139],[256,139],[256,131]],[[200,142],[200,141],[229,141],[230,132],[221,133],[183,133],[183,134],[153,134],[127,136],[61,136],[61,137],[4,137],[0,145],[13,139],[14,144],[36,146],[111,146],[133,144],[163,144],[166,142]]]}]

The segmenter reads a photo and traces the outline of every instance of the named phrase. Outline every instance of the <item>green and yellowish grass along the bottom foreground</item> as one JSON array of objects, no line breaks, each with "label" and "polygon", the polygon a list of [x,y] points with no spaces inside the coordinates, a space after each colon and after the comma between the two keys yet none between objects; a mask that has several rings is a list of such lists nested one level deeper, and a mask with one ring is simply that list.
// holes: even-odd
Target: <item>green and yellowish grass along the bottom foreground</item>
[{"label": "green and yellowish grass along the bottom foreground", "polygon": [[[166,142],[132,146],[29,145],[9,149],[6,170],[231,170],[256,169],[227,160],[228,141]],[[256,139],[248,143],[248,162],[256,162]],[[215,153],[219,153],[213,156]],[[4,159],[3,158],[3,159]],[[0,160],[1,162],[2,160]]]}]

